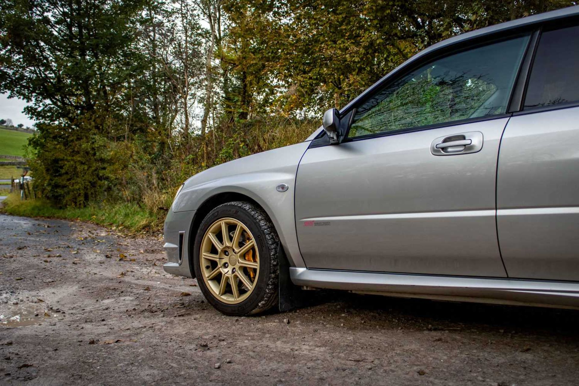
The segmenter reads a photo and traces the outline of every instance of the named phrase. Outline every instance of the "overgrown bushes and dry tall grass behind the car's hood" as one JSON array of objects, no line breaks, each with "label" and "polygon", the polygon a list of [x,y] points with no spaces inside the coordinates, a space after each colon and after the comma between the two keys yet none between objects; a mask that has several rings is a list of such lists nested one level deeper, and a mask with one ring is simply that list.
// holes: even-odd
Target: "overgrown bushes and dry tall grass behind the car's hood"
[{"label": "overgrown bushes and dry tall grass behind the car's hood", "polygon": [[[13,208],[31,215],[74,218],[79,214],[86,219],[86,214],[100,213],[96,203],[107,202],[119,210],[146,212],[147,218],[164,218],[179,185],[191,175],[252,153],[301,142],[317,128],[316,122],[272,117],[226,123],[204,136],[174,137],[164,143],[144,133],[111,140],[100,134],[96,122],[85,119],[70,127],[39,125],[38,134],[30,139],[28,156],[35,191],[42,200],[12,202]],[[46,211],[38,208],[42,205]],[[123,218],[117,216],[115,221]]]}]

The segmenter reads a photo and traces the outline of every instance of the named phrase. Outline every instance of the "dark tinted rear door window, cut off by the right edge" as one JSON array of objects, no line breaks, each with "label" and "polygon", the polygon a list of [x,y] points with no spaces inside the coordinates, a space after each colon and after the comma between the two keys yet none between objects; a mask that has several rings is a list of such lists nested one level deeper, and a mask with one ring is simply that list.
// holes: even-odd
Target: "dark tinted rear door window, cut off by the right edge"
[{"label": "dark tinted rear door window, cut off by the right edge", "polygon": [[579,27],[543,32],[525,108],[579,101]]}]

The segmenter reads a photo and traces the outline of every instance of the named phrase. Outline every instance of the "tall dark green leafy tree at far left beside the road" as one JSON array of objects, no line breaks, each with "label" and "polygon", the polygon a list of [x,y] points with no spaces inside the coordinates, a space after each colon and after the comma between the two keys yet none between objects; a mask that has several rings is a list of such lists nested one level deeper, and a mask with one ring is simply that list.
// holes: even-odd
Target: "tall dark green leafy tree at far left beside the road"
[{"label": "tall dark green leafy tree at far left beside the road", "polygon": [[146,66],[135,49],[144,3],[0,3],[0,93],[31,102],[36,186],[58,205],[82,206],[120,185],[112,171],[124,162],[111,149],[148,127],[135,82]]}]

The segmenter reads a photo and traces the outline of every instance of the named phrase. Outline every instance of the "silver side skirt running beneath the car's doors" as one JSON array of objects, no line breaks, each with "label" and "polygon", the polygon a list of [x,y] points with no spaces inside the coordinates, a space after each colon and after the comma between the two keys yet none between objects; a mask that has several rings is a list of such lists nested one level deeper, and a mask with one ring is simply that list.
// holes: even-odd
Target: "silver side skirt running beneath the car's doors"
[{"label": "silver side skirt running beneath the car's doors", "polygon": [[579,283],[569,281],[334,271],[295,267],[290,267],[290,277],[295,285],[343,289],[375,295],[579,308]]}]

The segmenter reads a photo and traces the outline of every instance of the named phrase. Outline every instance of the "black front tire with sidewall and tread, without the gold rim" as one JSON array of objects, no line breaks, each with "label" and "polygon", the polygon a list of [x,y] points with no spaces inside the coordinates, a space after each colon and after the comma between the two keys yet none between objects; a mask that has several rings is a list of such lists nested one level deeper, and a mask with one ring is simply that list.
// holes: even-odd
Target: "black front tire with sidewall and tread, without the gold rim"
[{"label": "black front tire with sidewall and tread, without the gold rim", "polygon": [[[244,223],[251,231],[259,252],[259,274],[255,288],[241,303],[227,304],[218,299],[207,288],[200,267],[201,242],[207,229],[212,223],[221,218],[234,218]],[[226,315],[258,314],[269,310],[278,301],[278,248],[279,237],[269,216],[262,208],[244,201],[234,201],[219,205],[203,219],[195,237],[193,248],[193,269],[197,277],[197,284],[206,297],[207,302]]]}]

